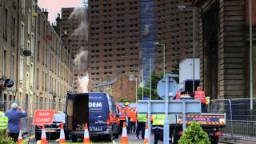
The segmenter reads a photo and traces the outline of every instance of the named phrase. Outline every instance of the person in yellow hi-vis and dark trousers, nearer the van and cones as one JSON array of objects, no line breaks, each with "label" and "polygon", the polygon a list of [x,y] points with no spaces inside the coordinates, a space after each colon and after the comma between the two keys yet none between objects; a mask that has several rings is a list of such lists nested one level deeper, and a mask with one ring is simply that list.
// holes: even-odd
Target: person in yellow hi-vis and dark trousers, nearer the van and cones
[{"label": "person in yellow hi-vis and dark trousers, nearer the van and cones", "polygon": [[139,139],[139,132],[142,130],[142,139],[145,136],[145,127],[146,127],[146,119],[147,116],[145,114],[138,114],[138,122],[137,122],[137,129],[136,129],[136,139]]}]

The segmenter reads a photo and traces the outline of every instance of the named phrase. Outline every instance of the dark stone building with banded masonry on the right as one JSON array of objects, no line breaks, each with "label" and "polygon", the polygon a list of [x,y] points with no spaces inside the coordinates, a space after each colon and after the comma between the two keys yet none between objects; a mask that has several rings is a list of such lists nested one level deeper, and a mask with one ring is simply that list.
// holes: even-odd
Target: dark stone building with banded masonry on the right
[{"label": "dark stone building with banded masonry on the right", "polygon": [[[201,85],[211,98],[250,98],[249,1],[194,0],[198,8]],[[255,2],[255,1],[252,1]],[[256,17],[253,5],[253,67]],[[256,73],[253,73],[253,77]],[[256,81],[254,79],[254,95]]]}]

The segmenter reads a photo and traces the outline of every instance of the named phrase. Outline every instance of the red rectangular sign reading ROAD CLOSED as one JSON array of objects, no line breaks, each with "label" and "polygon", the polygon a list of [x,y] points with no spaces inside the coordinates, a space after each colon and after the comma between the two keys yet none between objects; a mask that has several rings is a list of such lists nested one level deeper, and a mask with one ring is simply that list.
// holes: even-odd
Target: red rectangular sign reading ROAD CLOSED
[{"label": "red rectangular sign reading ROAD CLOSED", "polygon": [[55,110],[35,110],[33,125],[52,124]]}]

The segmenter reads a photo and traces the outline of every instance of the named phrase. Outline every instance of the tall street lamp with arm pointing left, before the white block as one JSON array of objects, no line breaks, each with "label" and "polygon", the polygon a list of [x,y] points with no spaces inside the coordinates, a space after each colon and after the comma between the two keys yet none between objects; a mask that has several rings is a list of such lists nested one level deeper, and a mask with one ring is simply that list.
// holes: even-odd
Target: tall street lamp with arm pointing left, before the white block
[{"label": "tall street lamp with arm pointing left, before the white block", "polygon": [[193,92],[194,92],[194,58],[195,58],[195,11],[194,8],[186,8],[185,5],[178,6],[178,10],[192,10],[193,11],[193,66],[192,66],[192,75],[193,75]]}]

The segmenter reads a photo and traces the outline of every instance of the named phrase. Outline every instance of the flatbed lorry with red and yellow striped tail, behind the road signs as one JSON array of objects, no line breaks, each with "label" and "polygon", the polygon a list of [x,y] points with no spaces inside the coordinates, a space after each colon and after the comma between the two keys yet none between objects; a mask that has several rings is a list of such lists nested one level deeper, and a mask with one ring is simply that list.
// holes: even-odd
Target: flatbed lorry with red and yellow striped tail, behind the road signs
[{"label": "flatbed lorry with red and yellow striped tail, behind the road signs", "polygon": [[[182,115],[174,115],[174,121],[170,122],[170,138],[173,144],[178,143],[182,136]],[[218,144],[218,138],[222,136],[221,129],[226,126],[226,114],[201,113],[186,115],[186,126],[191,122],[199,122],[202,129],[209,135],[212,144]]]}]

